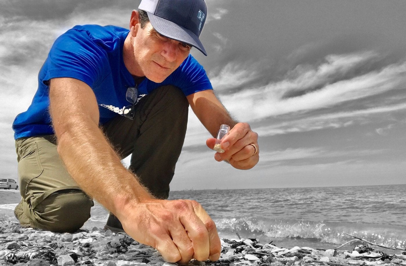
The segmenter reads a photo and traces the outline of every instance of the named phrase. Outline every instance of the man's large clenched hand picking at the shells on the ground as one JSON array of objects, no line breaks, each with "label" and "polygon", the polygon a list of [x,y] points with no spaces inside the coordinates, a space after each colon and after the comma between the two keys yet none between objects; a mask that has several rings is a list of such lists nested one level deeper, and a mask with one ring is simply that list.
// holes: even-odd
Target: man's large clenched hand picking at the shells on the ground
[{"label": "man's large clenched hand picking at the shells on the ground", "polygon": [[167,262],[192,258],[216,261],[221,244],[216,225],[194,200],[149,200],[127,208],[119,217],[134,240],[157,249]]}]

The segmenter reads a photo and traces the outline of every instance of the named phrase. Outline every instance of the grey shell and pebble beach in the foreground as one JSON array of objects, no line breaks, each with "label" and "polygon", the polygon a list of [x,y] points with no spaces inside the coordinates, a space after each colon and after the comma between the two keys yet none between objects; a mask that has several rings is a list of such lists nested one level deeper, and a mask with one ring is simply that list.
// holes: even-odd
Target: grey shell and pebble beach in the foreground
[{"label": "grey shell and pebble beach in the foreground", "polygon": [[[220,259],[216,262],[192,260],[198,266],[309,266],[369,265],[406,266],[406,251],[387,255],[367,245],[351,249],[313,249],[277,247],[258,239],[222,239]],[[167,263],[155,249],[140,244],[125,233],[94,227],[74,234],[52,233],[22,228],[15,221],[2,221],[0,227],[1,265],[94,265],[94,266],[175,266]]]}]

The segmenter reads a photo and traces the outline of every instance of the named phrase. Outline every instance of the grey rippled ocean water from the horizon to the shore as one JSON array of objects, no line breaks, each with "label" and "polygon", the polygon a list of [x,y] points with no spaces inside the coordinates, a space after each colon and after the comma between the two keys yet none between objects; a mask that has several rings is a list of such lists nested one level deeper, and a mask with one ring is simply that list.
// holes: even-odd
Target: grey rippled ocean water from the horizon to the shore
[{"label": "grey rippled ocean water from the horizon to the shore", "polygon": [[[169,199],[197,200],[216,223],[220,238],[238,239],[239,235],[258,238],[263,244],[272,241],[278,247],[335,249],[354,239],[348,233],[406,249],[405,191],[406,184],[216,189],[171,191]],[[103,227],[107,217],[108,212],[96,203],[84,228]],[[356,244],[351,245],[341,249],[350,250]]]}]

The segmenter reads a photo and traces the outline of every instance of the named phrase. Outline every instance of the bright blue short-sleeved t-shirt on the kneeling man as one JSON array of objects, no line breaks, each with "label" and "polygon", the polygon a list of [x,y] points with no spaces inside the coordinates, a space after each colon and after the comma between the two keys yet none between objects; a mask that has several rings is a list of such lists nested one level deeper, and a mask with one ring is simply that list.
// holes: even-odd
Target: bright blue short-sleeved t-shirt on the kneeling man
[{"label": "bright blue short-sleeved t-shirt on the kneeling man", "polygon": [[[75,26],[56,39],[38,75],[38,89],[26,112],[13,122],[14,138],[54,134],[49,114],[49,81],[72,77],[89,85],[99,105],[99,122],[104,124],[130,105],[125,99],[134,77],[123,61],[123,45],[129,30],[116,26]],[[163,85],[174,85],[185,96],[212,89],[203,66],[191,55],[162,83],[144,79],[138,84],[138,98]]]}]

